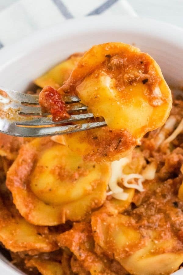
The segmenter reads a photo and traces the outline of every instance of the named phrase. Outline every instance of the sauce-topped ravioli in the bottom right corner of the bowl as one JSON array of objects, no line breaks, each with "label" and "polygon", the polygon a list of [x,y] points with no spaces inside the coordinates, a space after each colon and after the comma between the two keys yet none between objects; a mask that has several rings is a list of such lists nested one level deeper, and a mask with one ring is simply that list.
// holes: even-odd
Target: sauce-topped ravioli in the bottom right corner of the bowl
[{"label": "sauce-topped ravioli in the bottom right corner of the bowl", "polygon": [[130,274],[169,275],[183,261],[182,245],[168,226],[166,233],[160,228],[143,229],[127,215],[110,217],[97,212],[91,225],[95,243]]}]

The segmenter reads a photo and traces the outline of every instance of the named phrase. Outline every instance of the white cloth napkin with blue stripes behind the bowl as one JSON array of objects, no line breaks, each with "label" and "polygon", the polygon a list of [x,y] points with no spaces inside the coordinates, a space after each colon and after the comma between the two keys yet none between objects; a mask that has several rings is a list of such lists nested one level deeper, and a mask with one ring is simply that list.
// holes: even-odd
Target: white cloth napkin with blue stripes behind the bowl
[{"label": "white cloth napkin with blue stripes behind the bowl", "polygon": [[104,13],[136,16],[127,0],[14,0],[0,12],[0,48],[64,20]]}]

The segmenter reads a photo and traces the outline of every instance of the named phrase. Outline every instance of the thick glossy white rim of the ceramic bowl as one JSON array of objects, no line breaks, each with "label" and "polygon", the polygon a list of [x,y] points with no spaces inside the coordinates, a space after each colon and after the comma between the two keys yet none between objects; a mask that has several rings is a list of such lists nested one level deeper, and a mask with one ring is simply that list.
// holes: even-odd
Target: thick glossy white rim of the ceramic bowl
[{"label": "thick glossy white rim of the ceramic bowl", "polygon": [[[93,15],[66,20],[63,23],[34,31],[34,33],[27,35],[25,38],[5,46],[0,50],[0,72],[13,60],[26,56],[50,40],[54,41],[58,37],[76,35],[76,32],[81,33],[84,31],[100,32],[113,30],[115,32],[124,28],[122,24],[125,25],[126,31],[143,34],[147,38],[149,36],[156,37],[163,42],[174,44],[183,50],[183,28],[181,27],[146,17]],[[9,264],[4,256],[1,257],[0,271],[4,271],[6,275],[24,274],[18,271],[15,266]],[[178,270],[173,274],[181,273],[181,270]]]}]

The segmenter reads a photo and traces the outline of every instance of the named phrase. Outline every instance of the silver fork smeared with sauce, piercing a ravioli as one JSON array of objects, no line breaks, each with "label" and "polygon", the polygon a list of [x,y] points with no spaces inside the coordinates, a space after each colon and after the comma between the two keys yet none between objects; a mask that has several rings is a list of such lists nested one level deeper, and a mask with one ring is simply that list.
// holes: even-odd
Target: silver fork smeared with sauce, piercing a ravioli
[{"label": "silver fork smeared with sauce, piercing a ravioli", "polygon": [[[87,106],[80,101],[76,96],[64,98],[66,106],[70,105],[69,113],[87,111]],[[73,105],[73,103],[78,104]],[[55,126],[93,118],[92,113],[72,114],[69,119],[58,122],[53,122],[52,117],[46,117],[48,115],[50,114],[41,111],[38,95],[24,94],[0,86],[0,132],[4,134],[17,137],[43,137],[106,126],[105,121]],[[46,125],[50,127],[44,127]]]}]

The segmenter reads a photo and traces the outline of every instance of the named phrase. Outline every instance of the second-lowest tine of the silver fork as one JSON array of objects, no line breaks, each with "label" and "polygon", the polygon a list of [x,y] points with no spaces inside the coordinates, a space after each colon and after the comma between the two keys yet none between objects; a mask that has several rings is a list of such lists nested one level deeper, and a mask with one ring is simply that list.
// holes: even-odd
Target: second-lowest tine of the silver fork
[{"label": "second-lowest tine of the silver fork", "polygon": [[41,117],[37,119],[32,119],[32,120],[23,120],[22,122],[17,122],[16,125],[24,125],[24,126],[39,126],[39,125],[52,125],[52,124],[63,124],[63,123],[70,123],[70,122],[75,122],[79,120],[84,120],[84,119],[89,119],[93,118],[92,113],[87,113],[87,114],[81,114],[81,115],[73,115],[70,116],[69,119],[61,120],[54,122],[52,121],[52,117]]}]

